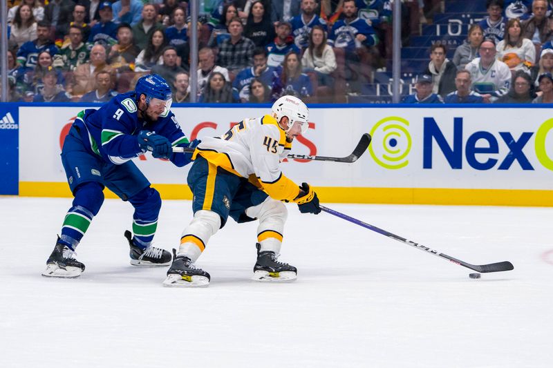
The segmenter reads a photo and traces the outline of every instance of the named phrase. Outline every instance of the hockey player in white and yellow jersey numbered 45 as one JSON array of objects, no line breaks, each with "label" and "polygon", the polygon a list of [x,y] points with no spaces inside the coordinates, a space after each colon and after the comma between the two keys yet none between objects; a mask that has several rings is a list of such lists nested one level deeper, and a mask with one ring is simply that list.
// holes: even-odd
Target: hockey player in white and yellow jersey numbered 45
[{"label": "hockey player in white and yellow jersey numbered 45", "polygon": [[306,133],[308,117],[300,99],[283,96],[273,104],[271,115],[244,119],[221,137],[203,139],[187,177],[194,218],[182,231],[165,286],[207,287],[209,273],[194,263],[229,216],[238,223],[259,220],[254,280],[295,280],[297,269],[278,261],[287,217],[281,201],[297,203],[301,213],[317,214],[321,209],[315,191],[285,177],[280,162],[294,137]]}]

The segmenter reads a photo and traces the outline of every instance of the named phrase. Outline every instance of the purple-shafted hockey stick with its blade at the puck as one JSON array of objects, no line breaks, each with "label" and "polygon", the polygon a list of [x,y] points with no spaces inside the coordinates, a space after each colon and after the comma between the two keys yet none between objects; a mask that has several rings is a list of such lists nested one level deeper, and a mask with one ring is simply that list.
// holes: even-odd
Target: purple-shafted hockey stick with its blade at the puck
[{"label": "purple-shafted hockey stick with its blade at the puck", "polygon": [[487,273],[487,272],[500,272],[500,271],[510,271],[514,269],[514,266],[511,262],[504,261],[504,262],[497,262],[497,263],[490,263],[490,264],[469,264],[467,262],[464,262],[462,260],[458,260],[457,258],[453,258],[450,255],[440,253],[438,251],[435,251],[434,249],[430,249],[427,246],[424,246],[422,244],[418,244],[415,242],[412,242],[411,240],[407,240],[405,238],[402,238],[398,235],[395,235],[393,233],[389,233],[386,230],[379,229],[376,226],[373,226],[371,224],[367,224],[366,222],[362,222],[360,220],[357,220],[353,217],[350,217],[348,215],[344,215],[344,213],[340,213],[338,211],[334,211],[332,209],[328,209],[325,206],[321,206],[321,210],[330,213],[330,215],[335,215],[337,217],[340,217],[344,220],[347,220],[349,222],[353,222],[354,224],[357,224],[359,226],[363,226],[366,229],[375,231],[379,234],[382,234],[384,236],[387,236],[388,238],[392,238],[393,240],[397,240],[398,242],[402,242],[404,244],[414,246],[416,249],[420,249],[421,251],[425,251],[427,253],[431,253],[433,255],[436,255],[440,258],[444,258],[444,260],[449,260],[450,262],[459,264],[460,266],[467,267],[467,269],[471,269],[480,273]]}]

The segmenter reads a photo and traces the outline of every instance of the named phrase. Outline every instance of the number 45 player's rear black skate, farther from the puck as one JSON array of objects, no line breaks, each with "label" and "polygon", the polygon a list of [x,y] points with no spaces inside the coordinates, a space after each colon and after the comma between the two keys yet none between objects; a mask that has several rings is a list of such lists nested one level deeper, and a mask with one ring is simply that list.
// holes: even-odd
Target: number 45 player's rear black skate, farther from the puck
[{"label": "number 45 player's rear black skate, farther from the puck", "polygon": [[[174,253],[175,250],[173,250]],[[190,258],[184,255],[175,256],[175,260],[169,271],[167,278],[163,282],[164,287],[207,287],[210,280],[209,273],[194,267]]]}]

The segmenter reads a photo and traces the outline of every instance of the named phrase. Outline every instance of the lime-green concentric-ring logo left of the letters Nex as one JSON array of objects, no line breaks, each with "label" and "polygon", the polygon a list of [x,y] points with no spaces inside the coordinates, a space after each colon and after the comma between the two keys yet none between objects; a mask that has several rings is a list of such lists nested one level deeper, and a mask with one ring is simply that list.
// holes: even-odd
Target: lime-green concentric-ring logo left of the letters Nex
[{"label": "lime-green concentric-ring logo left of the letters Nex", "polygon": [[[406,127],[409,127],[409,122],[397,116],[385,117],[373,126],[373,142],[368,151],[377,164],[392,170],[409,164],[407,156],[411,151],[411,134]],[[382,146],[377,142],[382,142]]]}]

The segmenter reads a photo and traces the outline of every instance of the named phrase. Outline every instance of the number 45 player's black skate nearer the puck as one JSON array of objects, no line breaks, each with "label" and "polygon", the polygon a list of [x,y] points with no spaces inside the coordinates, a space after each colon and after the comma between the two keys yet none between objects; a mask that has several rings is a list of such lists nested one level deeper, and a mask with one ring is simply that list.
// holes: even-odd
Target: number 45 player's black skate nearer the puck
[{"label": "number 45 player's black skate nearer the puck", "polygon": [[254,266],[252,280],[263,282],[290,282],[296,280],[298,270],[288,263],[279,262],[272,251],[260,252],[261,244],[257,248],[257,262]]}]

